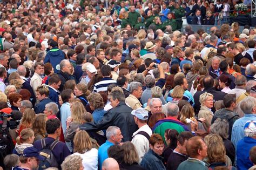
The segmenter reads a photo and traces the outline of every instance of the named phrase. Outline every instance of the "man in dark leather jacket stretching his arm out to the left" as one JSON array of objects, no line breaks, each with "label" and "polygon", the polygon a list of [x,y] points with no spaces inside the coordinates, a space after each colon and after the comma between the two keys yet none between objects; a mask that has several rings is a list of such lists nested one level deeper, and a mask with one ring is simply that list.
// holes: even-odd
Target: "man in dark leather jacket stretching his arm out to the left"
[{"label": "man in dark leather jacket stretching his arm out to the left", "polygon": [[114,87],[109,95],[109,99],[112,105],[112,109],[107,111],[102,121],[98,124],[85,123],[80,125],[81,130],[86,131],[100,131],[113,125],[118,126],[122,131],[124,141],[131,141],[132,134],[138,130],[137,125],[134,122],[133,115],[131,115],[132,108],[125,104],[125,96],[120,87]]}]

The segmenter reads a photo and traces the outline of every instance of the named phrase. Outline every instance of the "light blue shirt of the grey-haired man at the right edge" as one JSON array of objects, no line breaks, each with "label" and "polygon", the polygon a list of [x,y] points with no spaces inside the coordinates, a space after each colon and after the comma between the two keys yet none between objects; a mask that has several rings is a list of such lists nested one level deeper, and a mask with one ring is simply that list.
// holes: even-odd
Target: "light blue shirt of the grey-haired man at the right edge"
[{"label": "light blue shirt of the grey-haired man at the right edge", "polygon": [[234,122],[231,141],[233,142],[235,149],[237,149],[238,141],[245,137],[244,126],[246,122],[250,120],[256,121],[256,114],[245,114],[244,117]]}]

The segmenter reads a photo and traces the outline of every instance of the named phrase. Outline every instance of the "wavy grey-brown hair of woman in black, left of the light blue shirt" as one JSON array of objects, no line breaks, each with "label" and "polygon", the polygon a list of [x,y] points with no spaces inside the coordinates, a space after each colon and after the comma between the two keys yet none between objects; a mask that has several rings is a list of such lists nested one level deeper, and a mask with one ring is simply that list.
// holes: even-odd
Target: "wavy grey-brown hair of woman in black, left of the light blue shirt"
[{"label": "wavy grey-brown hair of woman in black, left of the light blue shirt", "polygon": [[210,129],[212,133],[220,135],[221,138],[228,138],[228,122],[226,119],[217,118]]}]

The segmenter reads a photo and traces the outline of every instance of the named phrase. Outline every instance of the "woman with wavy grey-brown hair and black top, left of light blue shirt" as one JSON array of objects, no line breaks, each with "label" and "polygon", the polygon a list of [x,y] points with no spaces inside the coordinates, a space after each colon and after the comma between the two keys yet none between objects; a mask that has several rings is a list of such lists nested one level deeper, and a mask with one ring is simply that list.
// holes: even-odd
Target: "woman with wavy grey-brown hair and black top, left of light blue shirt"
[{"label": "woman with wavy grey-brown hair and black top, left of light blue shirt", "polygon": [[228,122],[226,119],[216,119],[211,125],[211,133],[218,134],[223,139],[226,148],[226,155],[231,159],[232,165],[235,160],[235,147],[233,143],[228,140]]}]

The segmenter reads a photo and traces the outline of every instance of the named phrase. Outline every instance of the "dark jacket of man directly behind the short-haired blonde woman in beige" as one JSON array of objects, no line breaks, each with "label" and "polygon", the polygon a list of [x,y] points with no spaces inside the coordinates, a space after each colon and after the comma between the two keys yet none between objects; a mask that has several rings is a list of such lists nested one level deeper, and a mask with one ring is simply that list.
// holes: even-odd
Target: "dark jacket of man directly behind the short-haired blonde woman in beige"
[{"label": "dark jacket of man directly behind the short-haired blonde woman in beige", "polygon": [[[199,103],[199,97],[201,94],[203,93],[211,93],[213,95],[213,99],[215,101],[217,100],[223,100],[223,97],[226,95],[226,93],[224,92],[221,92],[221,91],[216,91],[214,89],[214,87],[208,87],[208,88],[205,88],[203,91],[197,91],[195,94],[194,94],[194,110],[195,110],[195,113],[198,113],[199,110],[200,110],[200,107],[201,107],[201,104]],[[214,113],[215,112],[215,107],[213,106],[212,107],[212,112]]]}]

